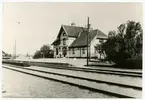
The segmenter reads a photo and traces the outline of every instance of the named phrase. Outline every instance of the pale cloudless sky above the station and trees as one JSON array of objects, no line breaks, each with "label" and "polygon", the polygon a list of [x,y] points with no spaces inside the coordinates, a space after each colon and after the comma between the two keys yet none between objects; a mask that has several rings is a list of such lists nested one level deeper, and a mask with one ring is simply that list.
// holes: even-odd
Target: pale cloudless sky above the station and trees
[{"label": "pale cloudless sky above the station and trees", "polygon": [[87,17],[93,29],[105,34],[128,20],[143,25],[142,3],[50,3],[5,2],[2,8],[2,49],[13,54],[34,54],[44,44],[51,44],[61,25],[85,26]]}]

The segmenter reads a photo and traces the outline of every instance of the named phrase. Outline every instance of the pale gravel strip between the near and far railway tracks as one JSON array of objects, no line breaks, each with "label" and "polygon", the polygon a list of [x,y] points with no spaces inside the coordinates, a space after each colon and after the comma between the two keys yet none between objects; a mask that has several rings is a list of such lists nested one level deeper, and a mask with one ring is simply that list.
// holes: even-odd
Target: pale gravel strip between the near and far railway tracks
[{"label": "pale gravel strip between the near and far railway tracks", "polygon": [[81,71],[44,68],[44,67],[37,67],[37,66],[31,66],[29,68],[43,70],[43,71],[57,72],[57,73],[67,74],[67,75],[76,75],[76,76],[93,78],[93,79],[97,79],[97,80],[104,80],[104,81],[115,82],[115,83],[130,84],[130,85],[134,85],[134,86],[142,86],[142,78],[139,78],[139,77],[128,77],[128,76],[119,76],[119,75],[111,75],[111,74],[89,73],[89,72],[81,72]]}]

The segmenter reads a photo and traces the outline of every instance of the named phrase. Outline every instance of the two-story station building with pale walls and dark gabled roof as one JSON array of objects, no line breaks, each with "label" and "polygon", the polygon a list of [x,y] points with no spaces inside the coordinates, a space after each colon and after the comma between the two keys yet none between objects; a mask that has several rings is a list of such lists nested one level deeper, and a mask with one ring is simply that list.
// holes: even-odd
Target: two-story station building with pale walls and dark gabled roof
[{"label": "two-story station building with pale walls and dark gabled roof", "polygon": [[[87,57],[87,28],[75,25],[62,25],[56,40],[52,43],[54,57],[86,58]],[[91,29],[88,34],[89,57],[99,58],[96,50],[108,36],[99,29]]]}]

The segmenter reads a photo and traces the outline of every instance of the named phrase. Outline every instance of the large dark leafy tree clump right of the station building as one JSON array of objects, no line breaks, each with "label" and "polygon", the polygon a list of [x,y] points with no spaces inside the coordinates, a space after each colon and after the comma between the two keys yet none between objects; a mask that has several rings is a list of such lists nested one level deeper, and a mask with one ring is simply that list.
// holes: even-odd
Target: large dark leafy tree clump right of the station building
[{"label": "large dark leafy tree clump right of the station building", "polygon": [[142,34],[141,24],[134,21],[121,24],[117,34],[115,31],[110,31],[108,40],[102,46],[106,59],[121,64],[129,58],[141,57]]}]

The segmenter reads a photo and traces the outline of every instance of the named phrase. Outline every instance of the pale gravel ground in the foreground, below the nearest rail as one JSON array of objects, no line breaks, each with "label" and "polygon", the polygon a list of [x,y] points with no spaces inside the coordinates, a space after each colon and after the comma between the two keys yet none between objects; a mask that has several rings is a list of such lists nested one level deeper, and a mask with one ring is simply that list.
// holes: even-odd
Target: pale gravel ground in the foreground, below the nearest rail
[{"label": "pale gravel ground in the foreground, below the nearest rail", "polygon": [[113,98],[102,93],[80,89],[3,68],[3,97]]}]

